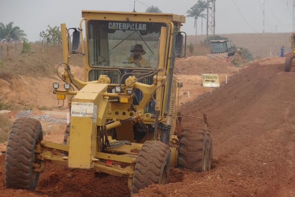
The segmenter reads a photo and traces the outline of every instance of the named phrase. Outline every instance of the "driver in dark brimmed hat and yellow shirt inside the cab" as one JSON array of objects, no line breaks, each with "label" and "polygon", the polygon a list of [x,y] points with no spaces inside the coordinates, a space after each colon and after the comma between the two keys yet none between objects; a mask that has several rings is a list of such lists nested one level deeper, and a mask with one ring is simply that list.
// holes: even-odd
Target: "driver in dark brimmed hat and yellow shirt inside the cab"
[{"label": "driver in dark brimmed hat and yellow shirt inside the cab", "polygon": [[143,55],[145,55],[147,52],[144,50],[143,45],[136,44],[130,52],[133,53],[133,55],[128,58],[129,63],[134,63],[137,67],[145,68],[150,67],[149,61],[145,60],[143,58]]}]

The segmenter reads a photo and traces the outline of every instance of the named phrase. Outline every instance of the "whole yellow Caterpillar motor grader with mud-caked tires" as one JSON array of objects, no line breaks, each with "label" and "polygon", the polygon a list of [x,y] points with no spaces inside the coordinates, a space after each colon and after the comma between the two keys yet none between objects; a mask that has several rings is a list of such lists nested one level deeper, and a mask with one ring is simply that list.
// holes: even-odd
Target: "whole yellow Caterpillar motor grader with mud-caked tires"
[{"label": "whole yellow Caterpillar motor grader with mud-caked tires", "polygon": [[[16,120],[5,157],[6,187],[34,190],[46,162],[128,177],[131,194],[166,184],[170,167],[210,170],[209,131],[181,128],[178,112],[182,84],[173,71],[175,58],[185,55],[185,17],[87,10],[82,17],[79,28],[61,24],[64,85],[53,89],[70,106],[64,143],[45,141],[37,120]],[[83,56],[83,81],[69,66],[75,53]]]}]

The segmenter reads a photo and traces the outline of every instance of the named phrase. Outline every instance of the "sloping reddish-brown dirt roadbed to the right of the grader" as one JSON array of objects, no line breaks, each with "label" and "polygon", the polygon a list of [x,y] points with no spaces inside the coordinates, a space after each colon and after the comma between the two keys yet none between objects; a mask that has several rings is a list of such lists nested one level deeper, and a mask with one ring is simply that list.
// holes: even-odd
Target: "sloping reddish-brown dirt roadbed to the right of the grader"
[{"label": "sloping reddish-brown dirt roadbed to the right of the grader", "polygon": [[135,196],[295,197],[295,72],[282,70],[253,64],[212,96],[185,104],[186,113],[209,114],[215,168]]}]

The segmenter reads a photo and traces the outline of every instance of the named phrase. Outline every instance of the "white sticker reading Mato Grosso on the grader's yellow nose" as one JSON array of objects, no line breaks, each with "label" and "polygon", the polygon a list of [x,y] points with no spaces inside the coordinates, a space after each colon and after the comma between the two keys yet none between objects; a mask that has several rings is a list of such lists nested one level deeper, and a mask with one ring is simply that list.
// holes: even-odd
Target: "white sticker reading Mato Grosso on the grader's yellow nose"
[{"label": "white sticker reading Mato Grosso on the grader's yellow nose", "polygon": [[94,103],[92,102],[72,102],[71,116],[93,118],[93,111]]}]

